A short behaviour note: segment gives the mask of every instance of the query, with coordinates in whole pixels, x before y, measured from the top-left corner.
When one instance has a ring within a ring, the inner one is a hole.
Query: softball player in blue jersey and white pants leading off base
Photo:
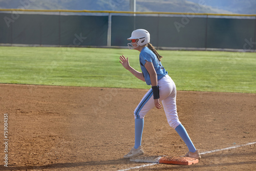
[[[144,29],[134,30],[132,36],[127,38],[132,42],[127,44],[129,49],[140,51],[139,60],[141,71],[136,71],[130,64],[128,57],[120,56],[122,66],[130,71],[138,79],[145,81],[147,85],[151,85],[151,89],[144,95],[139,105],[134,111],[135,117],[135,145],[131,151],[124,155],[124,158],[144,154],[141,147],[142,132],[144,126],[144,116],[154,106],[161,109],[162,101],[167,121],[171,127],[180,135],[188,147],[188,153],[185,157],[200,159],[199,150],[197,150],[190,140],[184,126],[181,124],[176,108],[176,86],[172,78],[162,66],[161,58],[155,48],[150,44],[150,33]]]

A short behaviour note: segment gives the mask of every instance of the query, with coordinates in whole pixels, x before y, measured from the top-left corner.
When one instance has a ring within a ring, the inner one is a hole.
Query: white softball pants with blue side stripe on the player
[[[177,114],[176,106],[176,86],[172,78],[168,75],[165,75],[163,78],[158,80],[159,86],[159,101],[162,101],[164,112],[167,118],[167,121],[171,127],[176,129],[177,126],[181,124]],[[152,89],[144,95],[139,105],[134,111],[135,119],[144,118],[146,113],[154,108],[154,98]]]

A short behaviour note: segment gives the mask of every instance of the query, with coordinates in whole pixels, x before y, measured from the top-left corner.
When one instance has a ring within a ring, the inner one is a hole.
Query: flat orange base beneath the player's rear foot
[[[179,165],[191,165],[198,163],[199,160],[190,157],[162,157],[159,159],[159,163],[162,164],[179,164]]]

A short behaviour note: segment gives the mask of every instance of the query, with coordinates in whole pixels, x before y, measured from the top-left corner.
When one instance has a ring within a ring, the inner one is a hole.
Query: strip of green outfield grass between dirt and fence
[[[158,52],[177,90],[256,93],[256,53]],[[120,55],[141,71],[135,50],[0,47],[0,82],[149,89],[122,67]]]

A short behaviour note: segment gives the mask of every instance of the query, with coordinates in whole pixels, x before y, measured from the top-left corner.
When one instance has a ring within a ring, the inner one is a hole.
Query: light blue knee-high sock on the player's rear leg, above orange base
[[[195,148],[193,142],[189,138],[185,127],[182,124],[180,124],[179,126],[176,127],[175,131],[180,135],[182,140],[185,142],[185,144],[188,147],[189,152],[195,153],[197,151],[197,149]]]

